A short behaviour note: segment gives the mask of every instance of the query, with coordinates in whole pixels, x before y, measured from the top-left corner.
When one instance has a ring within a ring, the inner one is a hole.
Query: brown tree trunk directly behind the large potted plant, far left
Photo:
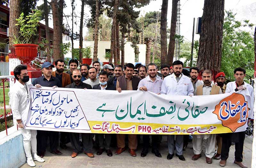
[[[10,22],[9,22],[9,49],[12,48],[13,37],[19,37],[19,26],[17,24],[17,18],[20,16],[20,0],[10,1]]]

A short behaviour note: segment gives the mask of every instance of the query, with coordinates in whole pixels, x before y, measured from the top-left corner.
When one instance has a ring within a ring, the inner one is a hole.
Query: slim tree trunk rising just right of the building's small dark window
[[[117,13],[117,5],[118,5],[118,0],[115,0],[114,4],[114,9],[113,9],[113,15],[112,15],[112,27],[111,27],[111,44],[110,44],[110,54],[111,57],[109,58],[109,63],[112,63],[113,56],[114,56],[114,43],[115,41],[115,36],[116,36],[116,13]],[[115,60],[115,57],[114,57]]]

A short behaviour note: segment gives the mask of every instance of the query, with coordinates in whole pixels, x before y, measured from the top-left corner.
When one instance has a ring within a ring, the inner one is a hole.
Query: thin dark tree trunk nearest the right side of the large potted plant
[[[50,52],[51,42],[50,42],[47,0],[44,0],[44,20],[45,20],[45,36],[46,36],[46,40],[48,41],[48,44],[47,44],[47,47],[46,47],[47,60],[49,62],[52,62],[51,61],[51,52]]]

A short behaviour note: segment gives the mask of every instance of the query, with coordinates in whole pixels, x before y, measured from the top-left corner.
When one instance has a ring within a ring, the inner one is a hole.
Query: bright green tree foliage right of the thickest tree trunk
[[[250,32],[243,27],[252,27],[249,20],[243,23],[235,19],[232,11],[225,11],[223,24],[222,58],[220,71],[226,74],[227,80],[234,81],[234,69],[242,67],[246,70],[246,82],[250,81],[254,72],[254,41]]]

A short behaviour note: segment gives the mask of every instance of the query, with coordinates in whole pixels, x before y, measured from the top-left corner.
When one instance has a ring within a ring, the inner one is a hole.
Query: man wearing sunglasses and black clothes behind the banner
[[[80,72],[79,69],[74,69],[72,71],[72,78],[73,78],[73,83],[67,85],[65,88],[74,88],[74,89],[92,89],[92,86],[90,84],[85,84],[81,82],[82,79],[82,73]],[[83,148],[84,148],[84,153],[88,157],[94,157],[92,153],[92,138],[93,134],[90,133],[81,133],[82,135],[82,143],[83,143]],[[77,156],[78,153],[82,151],[80,143],[79,143],[79,133],[69,133],[70,136],[70,142],[73,148],[73,153],[71,154],[71,157],[74,158]]]

